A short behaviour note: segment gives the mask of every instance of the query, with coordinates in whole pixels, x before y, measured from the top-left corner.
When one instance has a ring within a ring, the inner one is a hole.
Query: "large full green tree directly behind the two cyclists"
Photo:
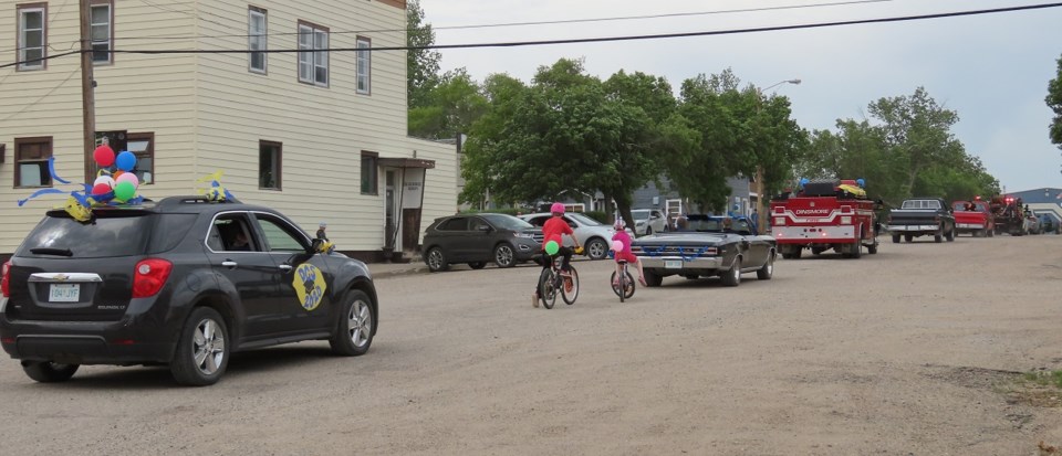
[[[602,83],[581,61],[562,59],[540,67],[530,86],[489,78],[485,94],[490,109],[465,150],[464,201],[488,192],[517,203],[601,191],[629,219],[634,190],[658,172],[658,129],[642,105],[666,112],[663,79],[617,73]]]

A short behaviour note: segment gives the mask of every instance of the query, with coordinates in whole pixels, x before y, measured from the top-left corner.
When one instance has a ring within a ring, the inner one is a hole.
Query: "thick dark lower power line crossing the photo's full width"
[[[1029,11],[1029,10],[1039,10],[1039,9],[1058,8],[1058,7],[1062,7],[1062,2],[1030,4],[1030,6],[1021,6],[1021,7],[1008,7],[1008,8],[993,8],[993,9],[987,9],[987,10],[956,11],[956,12],[936,13],[936,14],[918,14],[918,15],[904,15],[904,17],[893,17],[893,18],[878,18],[878,19],[857,19],[857,20],[848,20],[848,21],[820,22],[820,23],[811,23],[811,24],[773,25],[773,26],[751,28],[751,29],[731,29],[731,30],[716,30],[716,31],[705,31],[705,32],[580,38],[580,39],[565,39],[565,40],[513,41],[513,42],[494,42],[494,43],[433,44],[427,46],[330,47],[326,50],[309,50],[309,51],[298,50],[298,49],[294,49],[294,50],[283,49],[283,50],[263,50],[263,51],[254,51],[254,52],[271,53],[271,54],[296,53],[296,52],[358,52],[358,51],[379,52],[379,51],[517,47],[517,46],[532,46],[532,45],[601,43],[601,42],[615,42],[615,41],[659,40],[659,39],[671,39],[671,38],[714,36],[714,35],[728,35],[728,34],[742,34],[742,33],[777,32],[777,31],[783,31],[783,30],[821,29],[821,28],[827,28],[827,26],[857,25],[857,24],[871,24],[871,23],[905,22],[905,21],[926,20],[926,19],[944,19],[944,18],[966,17],[966,15],[993,14],[993,13],[1001,13],[1001,12]],[[39,60],[54,59],[58,56],[69,55],[69,54],[79,53],[79,52],[80,51],[75,51],[75,52],[60,54],[55,56],[48,56]],[[249,53],[250,51],[242,49],[242,50],[139,50],[139,51],[111,50],[110,52],[121,53],[121,54],[159,55],[159,54],[246,54],[246,53]],[[0,65],[0,68],[11,66],[11,65],[17,65],[19,63],[21,62]]]

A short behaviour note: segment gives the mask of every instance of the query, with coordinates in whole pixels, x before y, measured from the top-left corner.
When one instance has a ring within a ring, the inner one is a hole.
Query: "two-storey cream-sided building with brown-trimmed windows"
[[[140,194],[191,194],[202,185],[196,179],[221,170],[241,201],[275,208],[311,234],[326,221],[339,250],[365,259],[378,259],[388,244],[386,226],[397,226],[396,250],[412,250],[427,223],[456,210],[456,146],[406,136],[404,51],[277,52],[404,46],[404,1],[93,3],[111,13],[96,11],[94,39],[107,28],[111,36],[94,44],[119,51],[93,68],[95,129],[138,151],[137,173],[152,181]],[[75,49],[76,4],[4,2],[0,64],[24,59],[17,40],[32,44],[40,34],[33,11],[46,18],[48,55]],[[121,52],[250,46],[273,52]],[[43,70],[0,68],[0,255],[65,201],[52,194],[18,206],[41,188],[31,172],[17,172],[46,158],[35,145],[50,146],[59,177],[84,181],[80,79],[76,54],[50,59]],[[423,212],[410,210],[420,206],[412,197],[421,190]]]

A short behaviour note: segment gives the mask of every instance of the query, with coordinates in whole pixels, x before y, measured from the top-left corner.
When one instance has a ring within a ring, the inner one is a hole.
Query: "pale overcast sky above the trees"
[[[1047,0],[420,0],[436,44],[705,32],[772,25],[935,14],[1043,4]],[[831,3],[834,3],[831,6]],[[475,29],[447,26],[570,21],[632,15],[723,12],[657,19]],[[1060,151],[1048,137],[1048,82],[1062,56],[1062,8],[975,17],[821,29],[562,44],[442,50],[442,70],[465,67],[482,81],[508,73],[529,83],[561,57],[584,59],[591,74],[641,71],[678,87],[699,73],[730,67],[742,85],[767,87],[792,100],[806,129],[835,130],[836,119],[862,119],[882,97],[929,95],[959,114],[952,128],[1007,191],[1062,187]],[[873,185],[873,182],[868,182]]]

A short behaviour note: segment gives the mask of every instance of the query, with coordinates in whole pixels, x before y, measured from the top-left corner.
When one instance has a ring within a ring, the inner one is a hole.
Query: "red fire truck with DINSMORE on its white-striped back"
[[[771,201],[771,234],[783,258],[800,258],[804,248],[818,255],[834,250],[858,258],[863,247],[877,253],[874,214],[881,202],[866,198],[854,180],[802,181],[796,192]]]

